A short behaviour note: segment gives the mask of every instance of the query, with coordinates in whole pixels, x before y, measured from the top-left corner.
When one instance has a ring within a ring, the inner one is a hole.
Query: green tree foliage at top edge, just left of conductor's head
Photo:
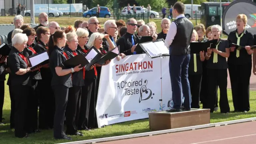
[[[161,11],[162,8],[168,8],[168,3],[166,0],[136,0],[140,6],[144,6],[147,8],[148,4],[150,4],[151,9],[154,11]]]

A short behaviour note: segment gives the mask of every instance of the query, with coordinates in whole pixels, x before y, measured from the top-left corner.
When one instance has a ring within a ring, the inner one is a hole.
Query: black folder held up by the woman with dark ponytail
[[[63,64],[66,68],[74,68],[75,66],[78,66],[79,64],[81,64],[80,68],[82,68],[82,67],[86,66],[87,64],[89,64],[89,62],[84,57],[84,55],[78,54],[78,55],[66,60],[65,62],[63,62]]]

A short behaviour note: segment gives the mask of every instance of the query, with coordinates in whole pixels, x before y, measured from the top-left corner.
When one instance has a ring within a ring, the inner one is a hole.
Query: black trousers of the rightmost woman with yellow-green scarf
[[[242,65],[228,64],[228,72],[230,74],[232,98],[235,111],[249,111],[252,63]]]

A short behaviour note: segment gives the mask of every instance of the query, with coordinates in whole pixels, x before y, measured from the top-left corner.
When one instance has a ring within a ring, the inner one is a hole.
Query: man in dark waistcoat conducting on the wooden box
[[[188,81],[188,64],[190,60],[190,40],[193,24],[184,16],[185,6],[176,2],[173,6],[172,16],[176,18],[167,33],[164,44],[169,47],[169,70],[172,84],[172,100],[174,105],[168,112],[191,109],[191,94]],[[184,96],[182,104],[181,90]]]

